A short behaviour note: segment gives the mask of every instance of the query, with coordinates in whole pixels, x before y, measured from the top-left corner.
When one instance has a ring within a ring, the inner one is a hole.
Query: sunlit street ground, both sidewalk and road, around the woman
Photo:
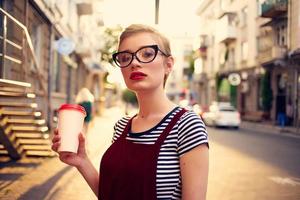
[[[88,149],[97,168],[122,114],[109,109],[90,127]],[[208,133],[208,200],[300,199],[299,137],[210,127]],[[77,170],[57,157],[6,164],[0,174],[1,199],[97,199]]]

